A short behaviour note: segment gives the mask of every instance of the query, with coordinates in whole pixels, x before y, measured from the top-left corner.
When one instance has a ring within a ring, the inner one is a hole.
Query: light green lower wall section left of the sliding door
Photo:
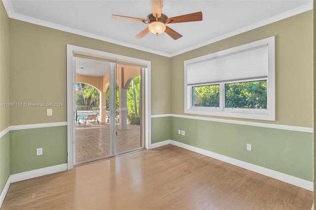
[[[43,154],[36,155],[36,148]],[[67,163],[67,126],[10,131],[10,174]]]

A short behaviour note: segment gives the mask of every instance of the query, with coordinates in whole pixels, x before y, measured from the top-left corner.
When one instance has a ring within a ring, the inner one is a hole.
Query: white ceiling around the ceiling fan
[[[202,11],[203,21],[169,24],[183,37],[135,35],[148,25],[113,20],[111,14],[145,18],[150,0],[2,0],[10,18],[171,57],[313,9],[313,0],[164,0],[168,17]]]

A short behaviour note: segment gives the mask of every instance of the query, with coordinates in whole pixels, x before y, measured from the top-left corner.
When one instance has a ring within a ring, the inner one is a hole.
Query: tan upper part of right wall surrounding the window
[[[184,114],[185,60],[276,36],[276,121],[241,121],[313,127],[313,11],[235,35],[171,58],[171,113]],[[216,116],[205,116],[223,118]]]

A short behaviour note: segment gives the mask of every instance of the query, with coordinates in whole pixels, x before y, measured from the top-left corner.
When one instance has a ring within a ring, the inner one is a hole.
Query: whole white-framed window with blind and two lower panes
[[[185,113],[275,120],[275,37],[184,62]]]

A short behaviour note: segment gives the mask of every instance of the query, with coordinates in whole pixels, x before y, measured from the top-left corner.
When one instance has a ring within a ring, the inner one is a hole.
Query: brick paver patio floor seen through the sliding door
[[[118,123],[117,123],[118,124]],[[120,131],[116,125],[116,154],[143,147],[139,125],[127,125]],[[76,164],[110,155],[110,123],[81,123],[76,127]]]

